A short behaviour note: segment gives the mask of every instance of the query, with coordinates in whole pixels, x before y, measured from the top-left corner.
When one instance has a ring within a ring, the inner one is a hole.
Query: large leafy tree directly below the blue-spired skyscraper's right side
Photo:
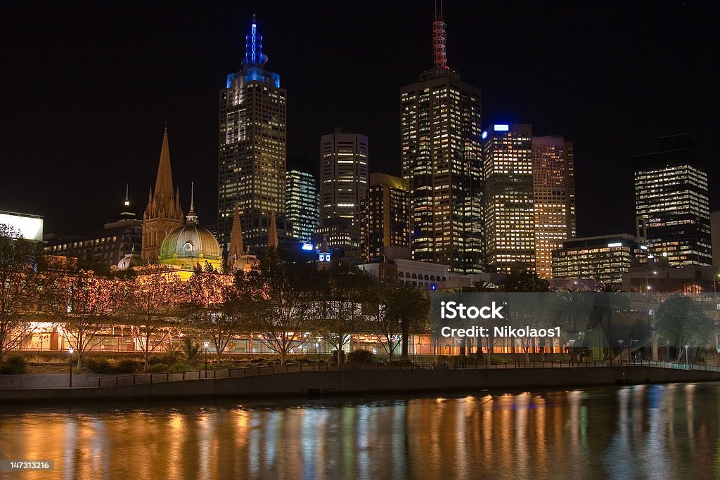
[[[238,289],[246,291],[248,307],[253,316],[253,330],[261,333],[260,341],[280,356],[287,355],[305,341],[304,332],[312,313],[315,268],[292,264],[270,248],[261,258],[260,268],[237,276]]]

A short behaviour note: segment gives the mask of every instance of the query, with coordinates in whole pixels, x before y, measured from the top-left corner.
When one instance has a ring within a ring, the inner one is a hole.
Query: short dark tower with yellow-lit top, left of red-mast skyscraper
[[[370,173],[360,222],[364,261],[382,259],[388,247],[410,248],[409,213],[407,182],[384,173]]]

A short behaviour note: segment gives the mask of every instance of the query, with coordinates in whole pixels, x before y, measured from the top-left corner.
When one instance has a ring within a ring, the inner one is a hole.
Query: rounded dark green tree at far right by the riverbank
[[[710,343],[713,322],[690,296],[673,295],[662,302],[656,319],[657,334],[678,348],[678,361],[685,345],[699,347]]]

